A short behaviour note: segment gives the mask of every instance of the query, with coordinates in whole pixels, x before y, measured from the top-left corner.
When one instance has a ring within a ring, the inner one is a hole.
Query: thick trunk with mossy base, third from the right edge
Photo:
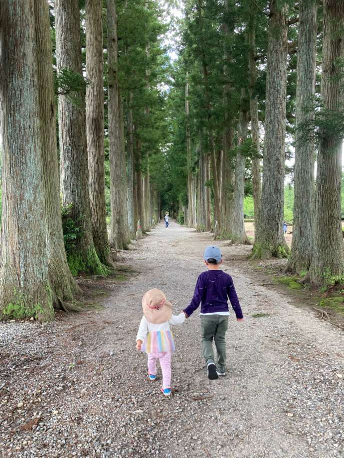
[[[287,97],[288,3],[270,1],[266,74],[266,115],[261,218],[256,225],[254,258],[288,254],[283,235],[284,162]]]

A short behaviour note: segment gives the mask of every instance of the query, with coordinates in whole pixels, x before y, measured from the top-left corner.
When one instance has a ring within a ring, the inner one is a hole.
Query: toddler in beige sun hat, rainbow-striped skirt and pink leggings
[[[142,317],[136,337],[136,348],[148,356],[148,376],[157,378],[157,359],[163,372],[162,393],[171,395],[171,356],[175,350],[171,325],[181,325],[185,321],[184,312],[172,315],[172,304],[163,291],[151,289],[142,298]]]

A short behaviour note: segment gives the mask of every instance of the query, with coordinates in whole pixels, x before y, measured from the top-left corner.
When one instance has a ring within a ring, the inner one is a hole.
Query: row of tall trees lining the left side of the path
[[[4,0],[0,21],[0,316],[50,320],[157,222],[165,26],[144,0]]]

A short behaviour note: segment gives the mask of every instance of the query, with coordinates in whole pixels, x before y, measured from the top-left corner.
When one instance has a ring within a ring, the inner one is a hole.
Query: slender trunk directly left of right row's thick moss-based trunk
[[[260,172],[260,141],[259,141],[259,123],[258,123],[258,97],[256,96],[256,11],[252,9],[250,17],[250,26],[248,30],[249,43],[249,77],[250,77],[250,115],[251,115],[251,138],[255,146],[255,154],[252,158],[252,195],[255,226],[259,226],[261,197],[262,197],[262,180]]]

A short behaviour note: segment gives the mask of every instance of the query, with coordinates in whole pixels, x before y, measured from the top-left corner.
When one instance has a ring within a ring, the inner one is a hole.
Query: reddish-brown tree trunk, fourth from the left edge
[[[101,262],[111,265],[105,209],[102,0],[86,1],[86,132],[93,242]]]

